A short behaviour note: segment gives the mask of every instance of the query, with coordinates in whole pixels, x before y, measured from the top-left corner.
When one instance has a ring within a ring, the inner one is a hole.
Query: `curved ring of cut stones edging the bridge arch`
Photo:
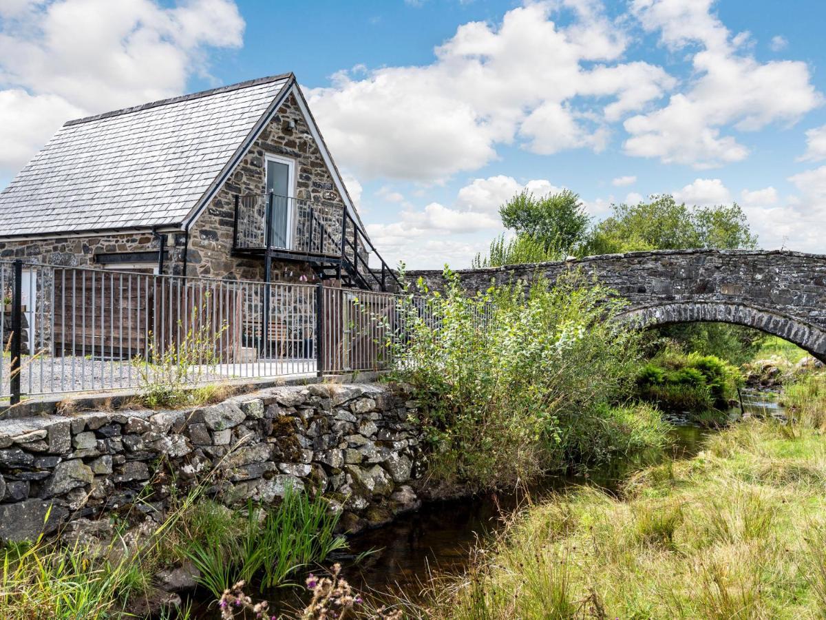
[[[826,330],[800,318],[743,303],[654,303],[629,308],[617,318],[643,329],[691,322],[718,322],[752,327],[790,341],[819,360],[826,360]]]

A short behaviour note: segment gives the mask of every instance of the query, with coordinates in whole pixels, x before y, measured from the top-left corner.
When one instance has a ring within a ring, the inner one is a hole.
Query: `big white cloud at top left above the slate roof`
[[[0,16],[0,173],[69,118],[182,93],[244,31],[232,0],[2,0]]]

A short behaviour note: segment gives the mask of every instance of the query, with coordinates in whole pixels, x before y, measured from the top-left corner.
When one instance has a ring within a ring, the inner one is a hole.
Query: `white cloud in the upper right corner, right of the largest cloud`
[[[624,122],[625,152],[666,163],[710,168],[740,161],[748,148],[724,128],[757,131],[771,122],[795,122],[822,103],[804,62],[760,63],[748,55],[748,33],[732,36],[710,10],[713,0],[634,0],[632,12],[663,45],[692,57],[695,78],[667,106]]]

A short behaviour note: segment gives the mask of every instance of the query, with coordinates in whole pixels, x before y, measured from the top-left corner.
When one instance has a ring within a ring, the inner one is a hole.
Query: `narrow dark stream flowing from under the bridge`
[[[746,415],[784,417],[777,393],[743,389],[742,403],[742,413]],[[733,408],[732,421],[742,413],[739,406]],[[680,414],[666,414],[665,418],[672,424],[673,441],[669,446],[643,451],[587,474],[548,475],[527,491],[531,500],[541,501],[582,484],[615,492],[628,475],[646,465],[691,458],[715,432],[692,426]],[[422,585],[430,579],[431,572],[457,574],[465,570],[472,547],[480,538],[501,530],[525,498],[526,492],[522,490],[426,503],[415,513],[401,515],[387,526],[351,537],[349,549],[330,557],[327,564],[340,562],[342,575],[359,592],[371,592],[378,599],[386,598],[382,594],[387,593],[420,602]],[[363,558],[356,562],[360,555]],[[265,597],[273,603],[271,612],[300,609],[306,604],[306,590],[298,588],[275,589]],[[217,617],[216,608],[208,605],[196,605],[192,611],[193,618]]]

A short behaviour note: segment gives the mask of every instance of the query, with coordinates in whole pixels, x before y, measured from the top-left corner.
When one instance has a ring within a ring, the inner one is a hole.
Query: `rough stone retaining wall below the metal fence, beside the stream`
[[[161,517],[169,483],[207,481],[227,505],[313,489],[345,530],[418,506],[416,403],[403,387],[263,389],[203,408],[120,410],[0,421],[0,539],[99,517],[141,494]]]

